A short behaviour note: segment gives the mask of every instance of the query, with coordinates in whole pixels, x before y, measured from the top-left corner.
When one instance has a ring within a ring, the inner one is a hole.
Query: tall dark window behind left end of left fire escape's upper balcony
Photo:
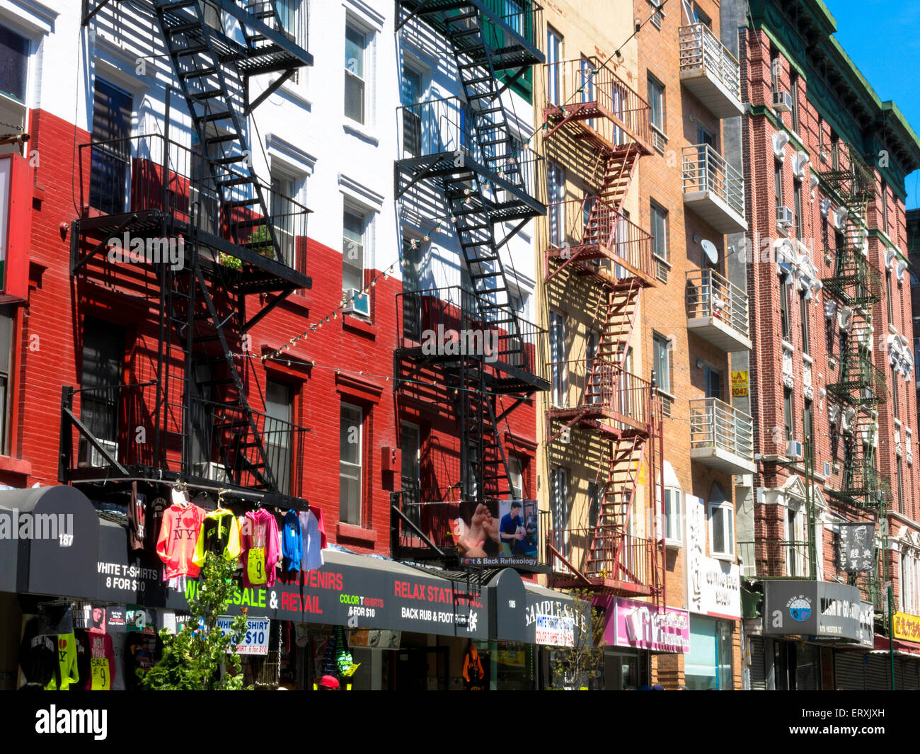
[[[89,168],[89,206],[108,215],[127,209],[131,176],[132,97],[96,79],[93,100],[93,141]]]

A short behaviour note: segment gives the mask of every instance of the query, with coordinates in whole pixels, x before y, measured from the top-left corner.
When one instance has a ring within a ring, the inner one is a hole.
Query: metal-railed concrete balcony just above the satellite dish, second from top
[[[719,233],[743,233],[744,179],[711,145],[684,146],[684,206]]]

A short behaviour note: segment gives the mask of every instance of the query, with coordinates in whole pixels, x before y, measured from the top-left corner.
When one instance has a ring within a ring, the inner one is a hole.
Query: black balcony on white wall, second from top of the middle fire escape
[[[399,108],[397,125],[397,199],[412,191],[404,202],[427,202],[431,212],[443,215],[443,207],[426,194],[420,181],[433,183],[441,192],[457,191],[465,184],[470,189],[465,212],[481,210],[492,222],[546,212],[535,199],[543,158],[525,149],[488,111],[455,97],[433,99]],[[475,190],[476,183],[482,191]]]

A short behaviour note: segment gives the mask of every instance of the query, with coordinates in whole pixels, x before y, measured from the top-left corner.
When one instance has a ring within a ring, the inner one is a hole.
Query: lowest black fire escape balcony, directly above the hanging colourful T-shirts
[[[213,390],[226,389],[225,382],[215,378]],[[181,475],[301,496],[306,427],[247,411],[229,396],[164,406],[160,392],[155,381],[63,388],[60,481]],[[139,426],[147,428],[145,443],[135,441]]]

